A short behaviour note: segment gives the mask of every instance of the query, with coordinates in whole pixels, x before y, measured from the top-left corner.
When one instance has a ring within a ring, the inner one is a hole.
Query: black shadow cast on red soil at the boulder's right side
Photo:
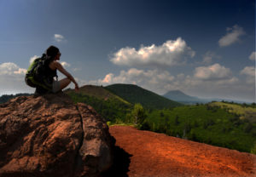
[[[125,150],[119,146],[113,147],[113,166],[107,171],[102,173],[101,177],[108,176],[122,176],[128,177],[127,172],[129,171],[129,165],[131,163],[131,154],[127,153]]]

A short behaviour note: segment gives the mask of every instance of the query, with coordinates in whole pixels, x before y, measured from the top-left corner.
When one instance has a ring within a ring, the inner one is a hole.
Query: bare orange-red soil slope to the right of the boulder
[[[165,134],[112,126],[112,176],[256,176],[256,156]]]

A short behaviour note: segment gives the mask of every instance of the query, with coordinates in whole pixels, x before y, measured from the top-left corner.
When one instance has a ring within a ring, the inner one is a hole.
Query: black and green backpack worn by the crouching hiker
[[[32,62],[26,71],[25,82],[32,88],[44,88],[49,92],[52,90],[52,79],[58,77],[56,72],[54,76],[49,76],[47,73],[47,67],[49,67],[49,61],[51,58],[43,54],[41,58],[38,58]]]

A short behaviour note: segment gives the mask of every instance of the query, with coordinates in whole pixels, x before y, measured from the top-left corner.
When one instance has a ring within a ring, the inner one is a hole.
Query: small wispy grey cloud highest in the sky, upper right
[[[220,47],[226,47],[231,45],[232,43],[236,43],[239,41],[239,37],[245,34],[242,27],[240,26],[233,26],[231,28],[227,28],[227,34],[224,37],[221,37],[218,40],[218,45]]]

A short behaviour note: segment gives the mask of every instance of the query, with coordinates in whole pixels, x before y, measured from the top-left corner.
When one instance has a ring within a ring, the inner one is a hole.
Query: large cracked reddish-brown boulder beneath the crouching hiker
[[[92,107],[66,94],[21,96],[0,105],[0,176],[98,176],[113,140]]]

